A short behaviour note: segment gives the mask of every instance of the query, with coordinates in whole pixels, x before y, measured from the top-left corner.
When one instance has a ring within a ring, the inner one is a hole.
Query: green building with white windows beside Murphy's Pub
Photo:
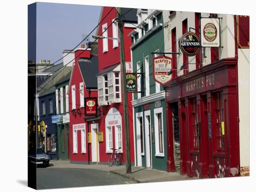
[[[153,58],[168,43],[168,11],[137,9],[132,37],[133,72],[138,92],[133,96],[136,166],[167,171],[165,90],[153,78]],[[166,26],[167,27],[164,27]],[[154,54],[155,52],[155,54]]]

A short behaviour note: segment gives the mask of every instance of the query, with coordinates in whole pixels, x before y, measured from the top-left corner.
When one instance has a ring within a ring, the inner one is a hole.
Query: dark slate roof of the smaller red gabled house
[[[97,73],[98,68],[98,56],[92,56],[90,59],[79,59],[79,68],[81,70],[82,77],[87,89],[97,89]]]

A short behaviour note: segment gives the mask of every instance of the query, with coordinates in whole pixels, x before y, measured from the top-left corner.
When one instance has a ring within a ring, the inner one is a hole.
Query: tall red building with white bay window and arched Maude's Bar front
[[[132,72],[130,45],[131,38],[127,37],[137,24],[136,9],[122,8],[124,15],[124,49],[127,72]],[[125,163],[125,132],[124,113],[121,96],[121,66],[120,49],[118,38],[117,12],[115,7],[102,7],[100,26],[97,35],[107,38],[98,39],[99,73],[98,83],[98,105],[101,108],[101,119],[98,124],[98,131],[102,132],[103,141],[99,142],[99,162],[108,162],[108,157],[112,153],[111,148],[121,147],[122,159]],[[131,105],[132,94],[128,94],[128,115],[133,116]],[[129,118],[130,133],[130,154],[131,162],[134,162],[134,131],[133,119]]]

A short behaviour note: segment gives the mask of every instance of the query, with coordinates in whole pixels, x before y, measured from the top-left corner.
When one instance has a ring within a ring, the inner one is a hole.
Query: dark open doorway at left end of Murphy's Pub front
[[[180,150],[178,102],[172,103],[171,108],[172,108],[172,121],[173,121],[175,172],[180,172],[181,150]]]

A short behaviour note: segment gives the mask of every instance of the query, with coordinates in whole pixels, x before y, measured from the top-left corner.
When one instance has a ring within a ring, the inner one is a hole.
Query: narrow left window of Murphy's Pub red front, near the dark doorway
[[[191,117],[192,117],[192,129],[193,129],[193,147],[199,149],[199,129],[198,129],[198,116],[196,108],[196,98],[191,99]]]

